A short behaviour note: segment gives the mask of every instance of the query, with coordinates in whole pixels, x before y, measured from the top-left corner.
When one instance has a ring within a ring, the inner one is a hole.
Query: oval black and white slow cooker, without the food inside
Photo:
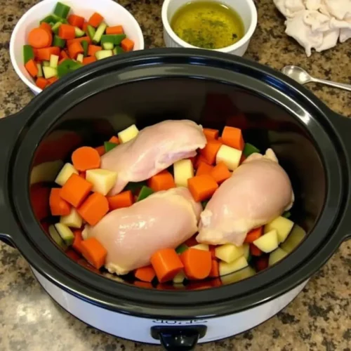
[[[93,270],[55,246],[39,223],[32,183],[55,176],[48,165],[62,164],[79,145],[164,119],[239,126],[249,143],[272,147],[296,194],[292,219],[307,232],[298,248],[248,279],[177,290]],[[65,310],[120,338],[191,350],[251,329],[289,304],[350,238],[351,121],[250,60],[195,49],[119,55],[60,79],[0,126],[1,239]]]

